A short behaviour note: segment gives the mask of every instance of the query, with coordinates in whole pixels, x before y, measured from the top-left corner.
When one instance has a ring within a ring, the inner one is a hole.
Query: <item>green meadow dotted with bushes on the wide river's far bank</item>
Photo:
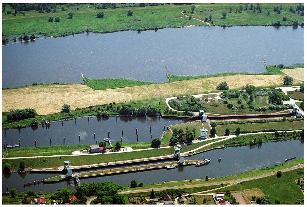
[[[253,12],[252,10],[243,10],[242,13],[235,13],[235,8],[239,4],[197,4],[199,5],[193,15],[193,18],[204,21],[204,17],[212,15],[215,25],[271,25],[276,20],[280,20],[282,25],[290,25],[297,19],[299,23],[304,21],[304,16],[293,14],[289,11],[290,5],[295,8],[297,4],[283,4],[281,14],[273,11],[275,4],[260,4],[262,12]],[[244,6],[244,4],[241,4]],[[16,35],[27,32],[29,34],[45,34],[46,36],[58,37],[84,32],[87,27],[90,32],[105,33],[120,30],[147,30],[164,28],[164,27],[182,27],[186,25],[205,26],[206,24],[194,19],[188,19],[181,14],[181,11],[187,9],[187,14],[191,12],[191,5],[163,5],[163,6],[146,6],[146,7],[128,7],[117,9],[96,9],[90,5],[66,6],[67,11],[57,13],[38,13],[37,11],[25,11],[25,15],[2,13],[2,30],[6,35]],[[79,11],[76,10],[79,7]],[[233,12],[229,13],[229,7]],[[6,6],[6,10],[10,10]],[[127,11],[132,10],[133,15],[127,16]],[[271,11],[266,15],[267,10]],[[14,14],[14,10],[11,10]],[[101,19],[96,18],[96,14],[103,11],[105,16]],[[152,11],[154,13],[152,13]],[[222,11],[227,12],[225,19],[222,17]],[[73,12],[72,19],[68,19],[68,13]],[[48,22],[48,17],[60,17],[60,22]],[[287,21],[282,21],[282,17],[287,16]],[[158,23],[157,23],[158,22]]]

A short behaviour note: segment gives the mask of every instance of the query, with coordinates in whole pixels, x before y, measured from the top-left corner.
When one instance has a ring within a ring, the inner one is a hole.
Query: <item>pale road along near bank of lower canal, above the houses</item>
[[[303,167],[304,167],[304,164],[301,164],[301,166],[299,166],[299,167],[298,166],[293,166],[293,167],[290,167],[290,168],[282,169],[281,171],[282,172],[286,172],[286,171],[290,171],[290,170],[298,169],[298,168],[303,168]],[[157,191],[157,190],[166,190],[166,189],[194,188],[194,187],[202,187],[202,186],[209,186],[209,185],[220,185],[222,183],[224,183],[224,184],[225,183],[231,183],[230,185],[227,185],[227,187],[228,187],[228,186],[236,185],[236,184],[244,182],[244,181],[250,181],[250,180],[259,179],[259,178],[262,178],[262,177],[268,177],[268,176],[271,176],[271,175],[275,175],[276,172],[277,171],[274,171],[274,172],[271,172],[271,173],[262,174],[262,175],[257,175],[257,176],[254,176],[254,177],[247,177],[247,178],[236,179],[236,180],[231,180],[231,181],[219,181],[219,182],[194,184],[194,185],[179,185],[179,186],[161,187],[161,188],[153,188],[153,189]],[[226,186],[223,186],[223,187],[226,187]],[[128,190],[128,191],[122,191],[120,193],[121,194],[127,194],[127,193],[149,192],[149,191],[151,191],[151,189],[152,188],[138,189],[138,190]],[[214,189],[211,189],[211,190],[208,190],[208,191],[212,191],[212,190],[214,190]],[[202,192],[198,192],[198,193],[203,193],[203,192],[206,192],[206,191],[202,191]]]

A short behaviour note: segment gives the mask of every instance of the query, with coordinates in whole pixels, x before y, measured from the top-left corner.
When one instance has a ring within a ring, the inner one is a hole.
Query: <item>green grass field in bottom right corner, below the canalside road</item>
[[[301,174],[302,173],[302,174]],[[280,204],[286,204],[286,201],[294,203],[297,199],[303,200],[304,194],[295,180],[304,177],[304,169],[295,169],[283,172],[282,177],[276,175],[263,177],[251,181],[244,181],[237,185],[229,186],[213,192],[244,192],[248,189],[260,189],[262,193],[267,194],[271,198],[272,204],[276,199],[280,200]]]

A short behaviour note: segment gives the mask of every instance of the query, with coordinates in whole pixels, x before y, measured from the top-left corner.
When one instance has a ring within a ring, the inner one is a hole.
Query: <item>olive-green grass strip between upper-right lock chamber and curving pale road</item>
[[[228,128],[231,134],[235,134],[235,130],[240,127],[241,133],[251,133],[260,131],[278,131],[278,130],[296,130],[304,129],[304,120],[301,121],[284,121],[284,122],[270,122],[270,123],[254,123],[254,124],[230,124],[218,125],[216,133],[219,136],[225,134],[225,129]]]

